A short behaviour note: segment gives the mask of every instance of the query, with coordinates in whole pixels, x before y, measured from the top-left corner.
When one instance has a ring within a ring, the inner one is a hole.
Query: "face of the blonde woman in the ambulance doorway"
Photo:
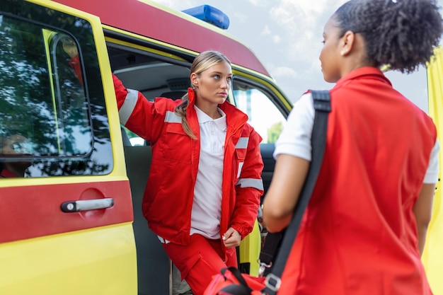
[[[191,74],[198,103],[224,103],[232,82],[232,69],[228,62],[214,64],[200,75]]]

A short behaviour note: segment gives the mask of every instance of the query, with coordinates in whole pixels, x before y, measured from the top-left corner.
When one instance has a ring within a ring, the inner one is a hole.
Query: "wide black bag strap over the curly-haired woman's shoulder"
[[[326,146],[326,132],[328,131],[328,115],[330,112],[330,94],[329,91],[313,91],[311,90],[313,98],[313,108],[316,110],[313,120],[313,129],[311,135],[312,157],[309,165],[308,175],[300,193],[299,200],[294,209],[294,216],[292,217],[289,226],[284,233],[282,245],[277,253],[275,265],[272,266],[272,271],[267,274],[265,280],[265,294],[275,295],[280,288],[282,273],[286,265],[287,257],[291,252],[292,244],[297,236],[301,218],[304,211],[309,204],[313,187],[316,185],[318,173],[323,163],[323,155]]]

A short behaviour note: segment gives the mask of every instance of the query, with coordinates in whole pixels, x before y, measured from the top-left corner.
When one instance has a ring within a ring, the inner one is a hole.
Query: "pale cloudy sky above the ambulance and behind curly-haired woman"
[[[226,33],[257,55],[292,102],[308,89],[330,89],[318,56],[323,26],[345,0],[154,0],[182,11],[207,4],[229,16]],[[442,6],[443,0],[438,0]],[[387,72],[394,88],[427,112],[426,69],[413,74]]]

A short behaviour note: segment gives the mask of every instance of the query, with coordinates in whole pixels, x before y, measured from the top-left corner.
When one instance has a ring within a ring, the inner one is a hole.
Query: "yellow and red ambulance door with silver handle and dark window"
[[[100,20],[0,3],[0,294],[137,294],[132,201]]]

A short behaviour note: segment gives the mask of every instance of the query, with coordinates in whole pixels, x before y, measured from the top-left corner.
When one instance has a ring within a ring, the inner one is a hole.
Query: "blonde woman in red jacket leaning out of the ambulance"
[[[231,63],[202,52],[181,100],[149,102],[114,76],[120,120],[152,145],[143,200],[149,227],[193,294],[236,266],[236,246],[253,229],[263,194],[260,135],[226,101]]]

